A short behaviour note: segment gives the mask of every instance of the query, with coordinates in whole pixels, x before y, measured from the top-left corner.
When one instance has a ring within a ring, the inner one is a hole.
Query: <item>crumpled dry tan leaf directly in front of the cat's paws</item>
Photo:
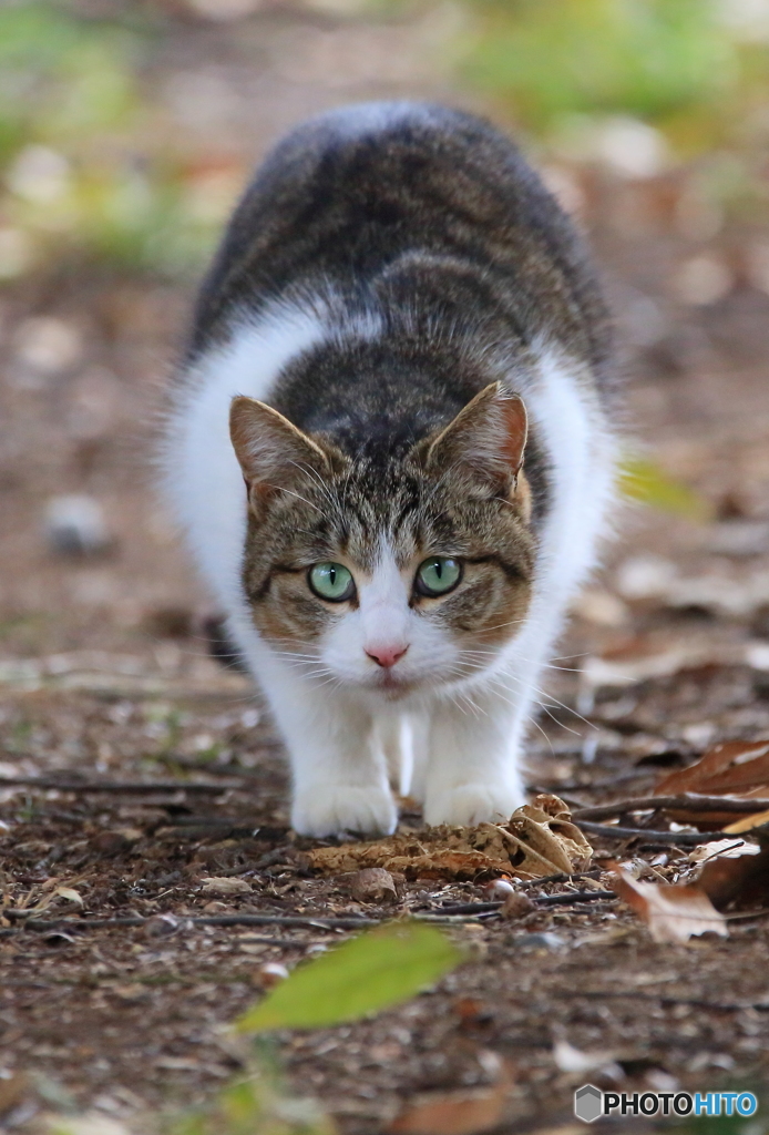
[[[582,871],[590,861],[592,848],[571,819],[563,800],[542,794],[517,808],[505,825],[443,824],[372,843],[315,848],[304,861],[328,875],[379,867],[409,880],[479,880],[501,874],[540,878]]]

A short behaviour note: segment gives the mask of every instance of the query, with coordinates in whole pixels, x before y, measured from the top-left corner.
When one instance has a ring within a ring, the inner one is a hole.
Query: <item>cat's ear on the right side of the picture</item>
[[[523,398],[491,382],[430,444],[428,469],[459,468],[508,493],[523,464],[529,417]]]

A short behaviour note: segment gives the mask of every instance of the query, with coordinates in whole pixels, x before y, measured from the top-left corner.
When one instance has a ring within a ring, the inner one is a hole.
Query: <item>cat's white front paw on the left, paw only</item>
[[[291,808],[291,826],[299,835],[321,838],[339,832],[389,835],[397,823],[395,800],[378,784],[314,785],[298,791]]]

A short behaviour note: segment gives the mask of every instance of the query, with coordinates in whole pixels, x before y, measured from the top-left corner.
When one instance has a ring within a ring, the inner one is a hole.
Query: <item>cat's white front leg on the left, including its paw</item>
[[[285,675],[268,697],[291,765],[291,826],[301,835],[389,834],[398,815],[371,716],[328,688]]]

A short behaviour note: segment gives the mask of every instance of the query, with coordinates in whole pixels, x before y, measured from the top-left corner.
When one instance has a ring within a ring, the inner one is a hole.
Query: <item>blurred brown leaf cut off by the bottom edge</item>
[[[463,1092],[428,1092],[408,1100],[388,1135],[481,1135],[501,1121],[510,1074],[496,1084]]]

